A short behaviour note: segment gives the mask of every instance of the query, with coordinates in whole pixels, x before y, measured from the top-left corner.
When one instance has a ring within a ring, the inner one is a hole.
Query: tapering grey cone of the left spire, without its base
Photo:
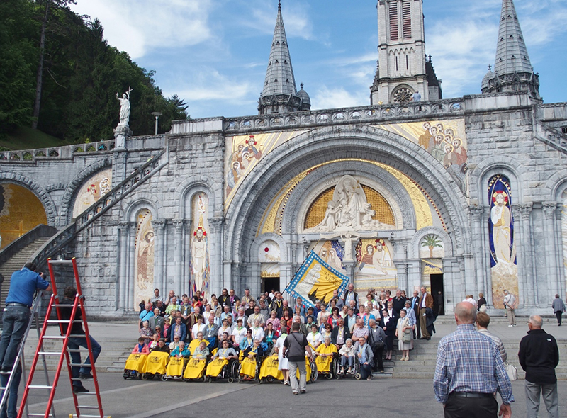
[[[274,29],[274,39],[271,41],[270,58],[262,97],[272,94],[297,94],[286,29],[283,27],[283,18],[281,17],[281,1],[278,2],[278,18]]]

